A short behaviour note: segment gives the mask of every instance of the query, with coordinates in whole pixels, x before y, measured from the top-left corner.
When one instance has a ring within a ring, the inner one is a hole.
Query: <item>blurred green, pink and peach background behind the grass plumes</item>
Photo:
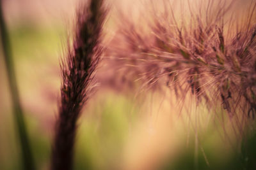
[[[129,6],[134,2],[108,1],[113,10],[134,8]],[[76,4],[74,0],[3,1],[20,101],[38,169],[49,168],[60,97],[59,61],[67,32],[74,26]],[[106,24],[109,34],[114,30],[111,26],[114,15],[111,10]],[[99,82],[97,92],[79,119],[75,169],[253,167],[255,135],[250,131],[246,139],[239,136],[221,108],[216,114],[206,106],[196,107],[191,99],[180,102],[167,88],[161,92],[138,93],[109,88],[109,82],[108,85]],[[0,94],[0,169],[21,169],[3,55]]]

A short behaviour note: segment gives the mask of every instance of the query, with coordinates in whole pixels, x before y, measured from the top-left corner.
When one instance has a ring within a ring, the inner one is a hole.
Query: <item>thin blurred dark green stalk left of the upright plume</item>
[[[33,160],[33,155],[31,153],[31,148],[29,146],[28,134],[26,132],[26,124],[24,122],[23,111],[19,100],[19,91],[17,88],[15,70],[13,67],[12,48],[4,22],[2,3],[3,0],[1,0],[0,2],[1,44],[3,48],[4,64],[6,65],[7,77],[10,85],[11,99],[13,103],[13,115],[16,122],[17,133],[19,134],[24,169],[33,170],[35,169],[35,164]]]

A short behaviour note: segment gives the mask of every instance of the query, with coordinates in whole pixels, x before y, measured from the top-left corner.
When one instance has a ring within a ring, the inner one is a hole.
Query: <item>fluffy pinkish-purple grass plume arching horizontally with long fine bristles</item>
[[[189,13],[180,10],[179,16],[166,2],[162,15],[148,4],[154,13],[146,12],[144,25],[122,15],[122,23],[126,22],[120,24],[108,50],[111,62],[122,68],[121,76],[140,80],[142,89],[168,85],[178,98],[186,96],[189,87],[197,101],[222,107],[230,118],[254,117],[256,3],[234,20],[229,15],[234,1],[198,1],[198,11],[188,2]],[[243,17],[248,18],[246,23],[239,21]]]

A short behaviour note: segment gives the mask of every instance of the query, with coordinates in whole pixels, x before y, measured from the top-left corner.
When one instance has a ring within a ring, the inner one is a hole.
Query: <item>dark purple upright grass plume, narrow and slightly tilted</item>
[[[106,18],[103,0],[81,3],[77,8],[72,45],[61,62],[61,101],[52,146],[51,169],[72,169],[77,119],[92,91],[99,63],[102,26]]]

